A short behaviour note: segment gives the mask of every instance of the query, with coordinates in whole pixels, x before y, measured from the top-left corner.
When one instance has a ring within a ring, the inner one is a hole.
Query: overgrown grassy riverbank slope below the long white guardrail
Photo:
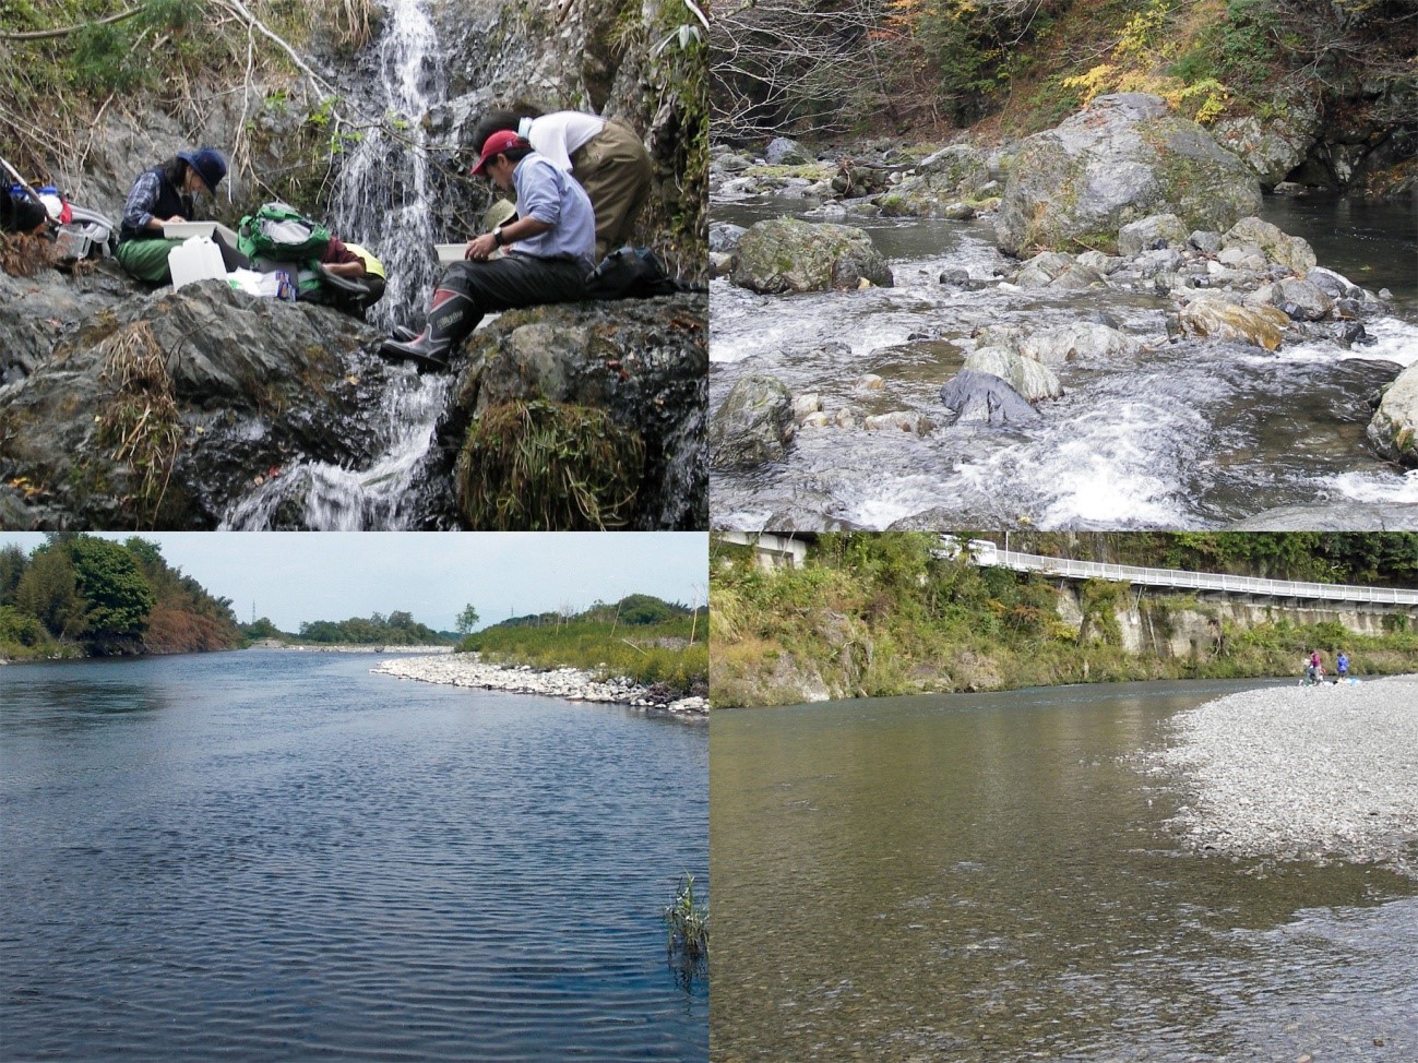
[[[1418,672],[1418,632],[1397,622],[1356,635],[1336,621],[1299,624],[1276,611],[1241,626],[1187,595],[1149,598],[1164,632],[1207,625],[1185,653],[1130,652],[1119,612],[1126,584],[1088,583],[1082,618],[1059,612],[1038,575],[933,557],[929,534],[821,536],[798,570],[764,573],[747,553],[713,544],[710,564],[715,707],[827,697],[998,690],[1082,682],[1297,676],[1319,648],[1344,649],[1357,676]]]

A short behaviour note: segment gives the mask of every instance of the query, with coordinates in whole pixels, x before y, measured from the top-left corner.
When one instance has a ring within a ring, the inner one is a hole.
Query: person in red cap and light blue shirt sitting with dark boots
[[[389,339],[380,354],[444,369],[452,349],[489,310],[584,296],[594,266],[596,215],[581,186],[510,130],[486,139],[472,171],[516,193],[516,220],[469,241],[465,261],[440,278],[423,334]],[[493,258],[498,248],[506,254]]]

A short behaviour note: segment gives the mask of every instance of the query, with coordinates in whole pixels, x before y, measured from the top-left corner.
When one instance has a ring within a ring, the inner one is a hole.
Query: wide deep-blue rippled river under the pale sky
[[[247,651],[0,668],[0,1057],[705,1060],[705,727]]]

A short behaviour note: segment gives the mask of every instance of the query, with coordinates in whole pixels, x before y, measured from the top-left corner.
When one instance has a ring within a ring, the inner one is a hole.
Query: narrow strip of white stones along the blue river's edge
[[[539,670],[527,665],[516,668],[489,665],[479,660],[476,653],[400,658],[386,660],[372,668],[370,672],[398,679],[415,679],[423,683],[542,694],[545,697],[564,697],[570,702],[628,704],[641,710],[661,710],[682,717],[708,717],[709,713],[709,700],[705,697],[672,699],[624,677],[596,682],[590,672],[574,668]]]

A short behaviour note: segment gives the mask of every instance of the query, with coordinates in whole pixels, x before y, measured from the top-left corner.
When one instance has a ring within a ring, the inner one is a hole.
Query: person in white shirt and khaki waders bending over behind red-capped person
[[[532,108],[489,111],[472,129],[472,150],[508,129],[525,136],[586,189],[596,208],[596,259],[631,238],[635,218],[649,198],[649,152],[640,136],[620,120],[580,111],[540,115]]]

